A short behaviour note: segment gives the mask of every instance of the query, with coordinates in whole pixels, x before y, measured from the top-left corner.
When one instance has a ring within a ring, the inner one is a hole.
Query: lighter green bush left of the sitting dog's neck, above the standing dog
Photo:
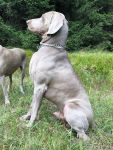
[[[39,43],[38,36],[30,33],[29,31],[19,31],[11,25],[5,24],[0,19],[0,44],[6,47],[21,47],[31,48],[36,51],[36,46]]]

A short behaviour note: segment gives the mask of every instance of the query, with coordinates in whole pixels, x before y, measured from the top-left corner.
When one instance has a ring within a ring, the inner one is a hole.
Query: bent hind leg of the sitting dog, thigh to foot
[[[77,132],[78,138],[84,141],[89,139],[85,133],[89,127],[89,123],[85,113],[79,106],[76,106],[74,103],[66,103],[64,106],[64,118],[71,128]]]

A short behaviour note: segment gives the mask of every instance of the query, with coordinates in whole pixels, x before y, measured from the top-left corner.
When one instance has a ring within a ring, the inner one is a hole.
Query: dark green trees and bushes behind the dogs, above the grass
[[[51,10],[69,21],[69,50],[113,51],[113,0],[0,0],[0,44],[36,50],[40,39],[27,31],[26,20]]]

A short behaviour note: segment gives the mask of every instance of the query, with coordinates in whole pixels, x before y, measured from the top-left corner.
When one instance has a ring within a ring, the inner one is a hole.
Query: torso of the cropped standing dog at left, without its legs
[[[0,75],[11,75],[18,67],[21,66],[22,60],[24,60],[25,57],[25,52],[22,49],[7,49],[3,47],[2,55],[0,56]]]

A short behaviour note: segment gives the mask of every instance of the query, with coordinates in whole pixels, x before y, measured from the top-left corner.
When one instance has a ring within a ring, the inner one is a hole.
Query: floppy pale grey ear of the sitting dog
[[[65,16],[61,13],[54,13],[51,18],[51,23],[47,35],[55,34],[62,26]]]

